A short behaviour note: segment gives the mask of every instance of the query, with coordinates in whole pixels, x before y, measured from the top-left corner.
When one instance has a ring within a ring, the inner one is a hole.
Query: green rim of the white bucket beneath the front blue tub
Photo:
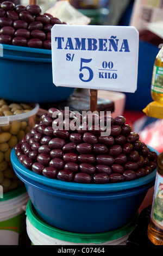
[[[26,215],[29,222],[43,234],[46,234],[54,239],[73,242],[73,243],[104,243],[119,239],[130,233],[135,228],[138,214],[136,213],[129,223],[112,231],[95,234],[72,233],[65,230],[60,230],[47,224],[35,211],[31,200],[28,201]]]

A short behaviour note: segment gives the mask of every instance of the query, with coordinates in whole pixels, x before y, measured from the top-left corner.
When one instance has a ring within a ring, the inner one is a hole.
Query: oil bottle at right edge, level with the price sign
[[[163,46],[154,62],[151,95],[154,101],[163,103]]]

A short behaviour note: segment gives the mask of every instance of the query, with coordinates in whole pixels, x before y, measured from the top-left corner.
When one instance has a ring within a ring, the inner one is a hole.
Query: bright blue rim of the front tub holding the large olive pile
[[[149,147],[153,151],[153,148]],[[158,151],[154,150],[157,154]],[[43,175],[36,174],[32,170],[27,169],[24,167],[19,161],[18,158],[15,154],[14,148],[11,150],[11,155],[10,155],[11,163],[12,166],[18,170],[21,174],[26,176],[29,179],[32,179],[34,181],[39,182],[40,184],[57,188],[57,189],[62,189],[62,190],[67,190],[67,191],[78,191],[78,192],[114,192],[114,191],[122,191],[122,190],[128,190],[130,188],[135,188],[135,187],[140,187],[144,186],[146,184],[151,183],[152,181],[155,180],[156,176],[156,169],[153,170],[152,173],[131,181],[123,181],[123,182],[117,182],[117,183],[108,183],[108,184],[80,184],[76,182],[67,182],[67,181],[61,181],[57,179],[50,179],[47,178]]]

